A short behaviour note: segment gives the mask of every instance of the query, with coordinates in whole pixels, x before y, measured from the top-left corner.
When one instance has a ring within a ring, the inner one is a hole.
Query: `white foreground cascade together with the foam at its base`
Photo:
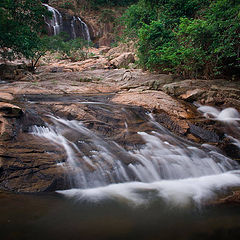
[[[61,191],[67,196],[144,203],[151,193],[184,205],[200,203],[222,188],[240,186],[235,161],[213,146],[194,145],[174,136],[151,115],[148,124],[153,131],[137,133],[145,144],[128,151],[79,121],[49,118],[50,124],[34,126],[32,133],[65,149],[67,159],[61,166],[71,176],[74,188]],[[129,134],[128,129],[126,132]]]

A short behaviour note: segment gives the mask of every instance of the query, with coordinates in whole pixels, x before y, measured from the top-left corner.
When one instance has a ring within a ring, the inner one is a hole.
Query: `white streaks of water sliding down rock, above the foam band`
[[[95,187],[97,182],[98,186],[104,186],[134,180],[154,182],[161,179],[200,177],[238,168],[237,163],[220,152],[180,142],[166,132],[138,132],[145,144],[140,149],[126,151],[117,143],[100,138],[78,121],[55,117],[51,119],[54,126],[34,126],[33,134],[47,138],[65,149],[68,167],[75,171],[79,168],[79,187]],[[88,148],[88,154],[83,153],[76,143],[64,136],[66,129],[88,139],[88,143],[83,144],[83,147]],[[117,152],[123,156],[117,155]],[[132,161],[124,164],[125,159]],[[89,172],[86,166],[94,171]],[[80,169],[84,169],[85,173]]]

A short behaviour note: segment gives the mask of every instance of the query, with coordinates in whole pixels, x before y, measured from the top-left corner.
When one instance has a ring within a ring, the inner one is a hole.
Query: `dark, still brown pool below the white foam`
[[[75,201],[59,194],[0,194],[0,239],[238,239],[240,208],[191,205],[177,208],[161,200],[132,206],[105,200]]]

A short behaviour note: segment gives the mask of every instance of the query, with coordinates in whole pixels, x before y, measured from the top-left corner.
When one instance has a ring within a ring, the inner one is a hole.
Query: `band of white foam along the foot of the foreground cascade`
[[[181,180],[162,180],[152,183],[129,182],[111,184],[90,189],[58,191],[80,201],[101,201],[113,199],[131,204],[145,204],[152,200],[146,193],[153,193],[167,203],[186,206],[192,202],[201,204],[216,196],[217,191],[240,185],[240,171]]]

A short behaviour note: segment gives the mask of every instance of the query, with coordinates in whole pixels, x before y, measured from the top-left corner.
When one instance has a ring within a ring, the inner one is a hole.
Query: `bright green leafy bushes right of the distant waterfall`
[[[140,0],[124,15],[138,39],[142,67],[206,78],[240,75],[240,3],[234,0]]]

